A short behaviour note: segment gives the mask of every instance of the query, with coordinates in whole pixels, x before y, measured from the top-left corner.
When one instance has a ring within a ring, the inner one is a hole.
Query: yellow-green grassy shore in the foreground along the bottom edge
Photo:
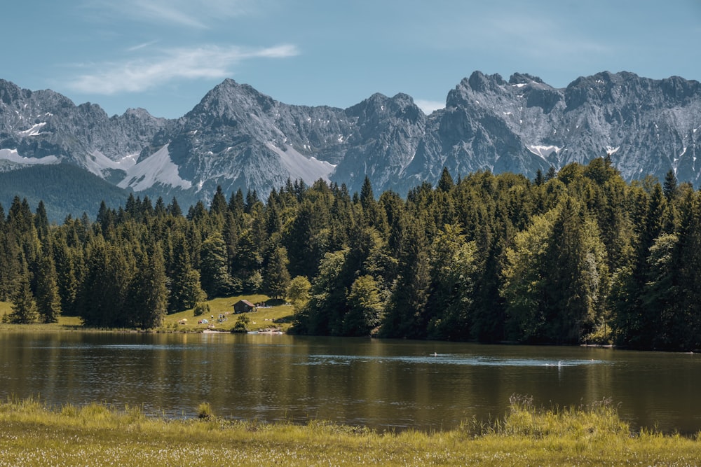
[[[536,410],[526,398],[512,400],[498,421],[437,433],[160,419],[134,407],[50,409],[36,400],[0,404],[0,428],[0,466],[691,466],[701,459],[701,441],[632,433],[606,403]]]

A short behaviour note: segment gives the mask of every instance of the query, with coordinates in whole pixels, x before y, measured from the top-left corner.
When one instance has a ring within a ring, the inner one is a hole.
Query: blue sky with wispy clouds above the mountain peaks
[[[110,116],[177,118],[224,78],[287,104],[405,92],[427,110],[475,70],[701,81],[701,0],[24,0],[1,18],[0,78]]]

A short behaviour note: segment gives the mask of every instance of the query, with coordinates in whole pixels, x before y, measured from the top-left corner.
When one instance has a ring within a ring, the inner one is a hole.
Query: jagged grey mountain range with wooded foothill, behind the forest
[[[226,79],[177,119],[144,109],[108,116],[51,90],[0,80],[0,203],[44,200],[61,220],[94,215],[100,200],[128,193],[207,202],[256,190],[261,199],[287,179],[325,179],[404,195],[478,170],[559,169],[610,155],[627,180],[673,169],[698,186],[701,85],[608,71],[554,88],[529,74],[475,71],[426,115],[409,95],[374,94],[348,109],[278,102]],[[62,195],[62,193],[64,193]],[[82,195],[76,195],[82,193]]]

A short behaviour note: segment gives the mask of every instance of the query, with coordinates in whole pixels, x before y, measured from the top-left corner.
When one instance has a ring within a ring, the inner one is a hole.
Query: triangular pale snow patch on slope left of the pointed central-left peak
[[[134,191],[143,191],[156,183],[174,188],[191,188],[192,183],[180,178],[178,167],[170,159],[168,144],[148,158],[127,169],[127,176],[117,183],[119,188],[130,187]]]

